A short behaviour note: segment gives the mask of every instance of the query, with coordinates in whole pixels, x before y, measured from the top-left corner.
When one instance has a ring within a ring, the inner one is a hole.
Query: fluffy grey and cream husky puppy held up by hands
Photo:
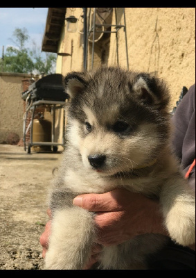
[[[45,269],[80,270],[97,231],[94,213],[73,206],[82,193],[126,188],[159,199],[164,225],[180,245],[195,243],[195,196],[170,149],[169,92],[147,73],[119,67],[71,72],[67,141],[49,193],[51,236]],[[103,247],[99,269],[148,269],[168,238],[136,236]]]

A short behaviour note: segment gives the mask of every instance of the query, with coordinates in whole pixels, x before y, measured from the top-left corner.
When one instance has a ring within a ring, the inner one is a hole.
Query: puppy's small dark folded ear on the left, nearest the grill
[[[82,72],[71,72],[64,77],[64,90],[70,97],[75,97],[86,88],[84,75]]]

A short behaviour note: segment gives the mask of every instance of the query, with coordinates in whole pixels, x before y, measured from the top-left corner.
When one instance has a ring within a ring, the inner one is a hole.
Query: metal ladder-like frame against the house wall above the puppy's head
[[[126,60],[127,60],[127,70],[129,70],[129,58],[128,58],[128,50],[127,50],[127,30],[126,30],[126,19],[125,19],[125,8],[123,8],[123,24],[117,24],[117,8],[111,8],[115,13],[115,24],[105,24],[105,20],[103,19],[100,24],[96,22],[96,17],[98,17],[98,9],[99,8],[89,8],[88,22],[87,22],[87,40],[86,47],[84,49],[84,70],[87,68],[87,52],[88,52],[88,43],[92,42],[92,53],[91,53],[91,69],[93,69],[94,62],[94,47],[96,43],[96,33],[100,33],[100,37],[103,33],[116,33],[116,59],[117,65],[119,65],[119,53],[118,53],[118,31],[123,28],[125,33],[125,51],[126,51]],[[107,28],[109,30],[107,30]],[[113,27],[113,28],[112,28]],[[114,31],[112,31],[114,30]]]

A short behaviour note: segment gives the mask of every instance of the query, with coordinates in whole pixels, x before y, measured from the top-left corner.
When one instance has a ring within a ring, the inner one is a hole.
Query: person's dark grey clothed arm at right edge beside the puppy
[[[195,159],[195,84],[190,86],[172,116],[172,148],[181,161],[184,175]],[[188,175],[188,183],[195,191],[195,166]]]

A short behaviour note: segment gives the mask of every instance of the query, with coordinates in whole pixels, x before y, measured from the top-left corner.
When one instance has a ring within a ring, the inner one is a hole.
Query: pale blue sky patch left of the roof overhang
[[[2,58],[3,46],[4,54],[6,47],[16,47],[10,40],[10,38],[14,40],[15,28],[27,29],[30,38],[26,47],[30,48],[33,40],[42,51],[47,14],[48,8],[0,8],[0,57]]]

